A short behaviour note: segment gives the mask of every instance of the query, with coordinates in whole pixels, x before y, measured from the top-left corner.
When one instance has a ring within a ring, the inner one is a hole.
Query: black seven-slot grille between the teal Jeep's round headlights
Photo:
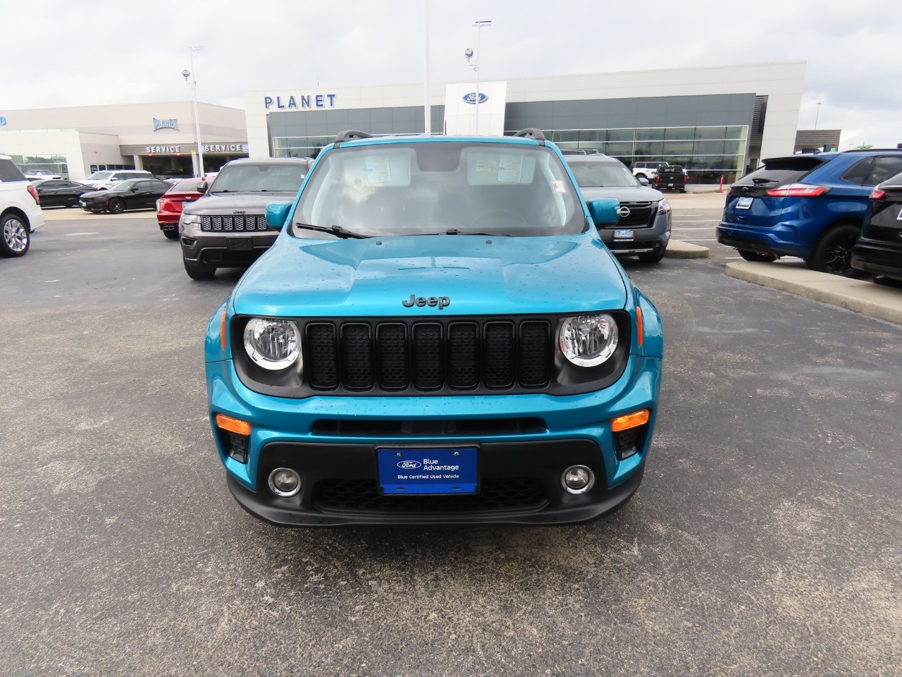
[[[316,391],[540,389],[554,356],[548,320],[314,320],[302,344]]]

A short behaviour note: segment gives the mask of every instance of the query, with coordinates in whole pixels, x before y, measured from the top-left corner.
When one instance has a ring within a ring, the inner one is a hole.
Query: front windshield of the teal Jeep
[[[373,144],[321,156],[299,224],[362,236],[573,235],[584,214],[557,154],[544,146],[465,142]]]

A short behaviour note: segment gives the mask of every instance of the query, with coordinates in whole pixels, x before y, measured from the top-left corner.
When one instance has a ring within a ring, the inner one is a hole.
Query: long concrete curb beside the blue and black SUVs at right
[[[817,273],[796,264],[727,264],[726,274],[737,280],[821,301],[878,320],[902,324],[902,290],[866,280]]]

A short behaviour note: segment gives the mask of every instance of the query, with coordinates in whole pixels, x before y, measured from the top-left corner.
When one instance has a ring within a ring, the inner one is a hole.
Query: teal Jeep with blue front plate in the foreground
[[[209,416],[272,524],[566,524],[639,487],[658,312],[538,130],[339,134],[207,329]]]

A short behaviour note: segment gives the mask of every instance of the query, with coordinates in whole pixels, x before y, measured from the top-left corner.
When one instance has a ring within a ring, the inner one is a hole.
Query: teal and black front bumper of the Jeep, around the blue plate
[[[611,511],[639,486],[660,373],[659,358],[632,356],[615,384],[581,395],[287,399],[250,391],[226,360],[207,363],[207,384],[229,488],[246,510],[272,524],[570,524]],[[640,409],[649,409],[651,418],[639,431],[638,452],[619,459],[611,420]],[[246,463],[227,455],[216,413],[251,423]],[[505,428],[504,422],[536,419],[542,424],[528,431]],[[474,422],[484,424],[478,434]],[[352,425],[344,431],[343,423]],[[411,445],[476,446],[481,493],[381,496],[376,449]],[[571,465],[592,468],[589,492],[564,490],[561,473]],[[298,470],[298,496],[269,490],[269,473],[283,466]]]

